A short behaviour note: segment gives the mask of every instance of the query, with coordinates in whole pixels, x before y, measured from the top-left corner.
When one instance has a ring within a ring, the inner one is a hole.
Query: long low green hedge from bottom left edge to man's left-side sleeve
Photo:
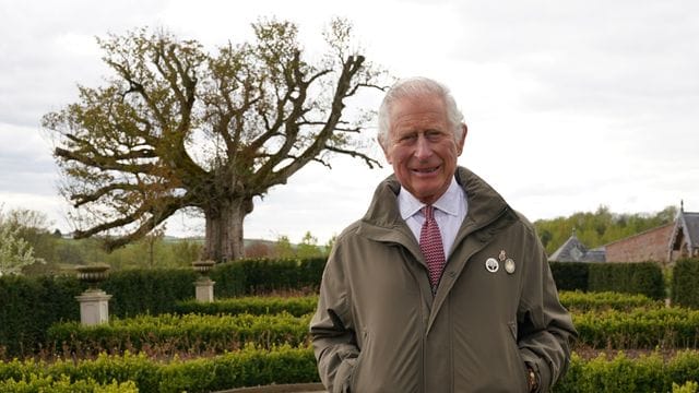
[[[72,381],[93,379],[102,384],[133,381],[140,392],[177,393],[319,380],[312,349],[291,346],[272,350],[246,346],[235,353],[189,360],[158,361],[144,354],[126,353],[123,356],[102,354],[94,360],[59,360],[50,365],[34,360],[0,362],[0,380],[59,379],[61,376],[68,376]]]

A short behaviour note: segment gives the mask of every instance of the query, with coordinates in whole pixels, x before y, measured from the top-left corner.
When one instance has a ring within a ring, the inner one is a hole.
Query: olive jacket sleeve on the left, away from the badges
[[[342,259],[333,250],[320,284],[318,309],[310,335],[320,379],[329,392],[350,392],[352,372],[359,355]]]

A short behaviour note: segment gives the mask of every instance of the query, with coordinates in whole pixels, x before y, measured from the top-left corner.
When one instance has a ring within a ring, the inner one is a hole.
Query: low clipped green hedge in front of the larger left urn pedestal
[[[201,356],[237,350],[246,344],[270,348],[282,344],[308,343],[310,315],[280,314],[159,314],[114,320],[108,324],[83,326],[60,323],[48,331],[49,347],[58,355],[78,357],[126,350],[150,355]]]

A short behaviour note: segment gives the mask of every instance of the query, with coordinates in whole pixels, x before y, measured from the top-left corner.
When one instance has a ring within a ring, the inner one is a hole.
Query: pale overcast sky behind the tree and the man
[[[214,48],[260,16],[296,22],[313,48],[332,16],[395,76],[451,87],[469,124],[460,164],[530,219],[600,205],[699,212],[699,1],[37,1],[0,0],[0,204],[71,230],[43,115],[110,75],[95,36],[165,27]],[[370,130],[369,132],[375,132]],[[370,153],[382,158],[375,147]],[[366,211],[390,167],[337,158],[273,188],[247,238],[322,243]],[[174,216],[170,235],[202,235]]]

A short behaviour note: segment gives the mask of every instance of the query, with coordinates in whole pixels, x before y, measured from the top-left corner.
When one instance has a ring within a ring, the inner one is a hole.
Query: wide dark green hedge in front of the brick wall
[[[558,290],[617,291],[665,298],[663,271],[657,263],[550,262]]]

